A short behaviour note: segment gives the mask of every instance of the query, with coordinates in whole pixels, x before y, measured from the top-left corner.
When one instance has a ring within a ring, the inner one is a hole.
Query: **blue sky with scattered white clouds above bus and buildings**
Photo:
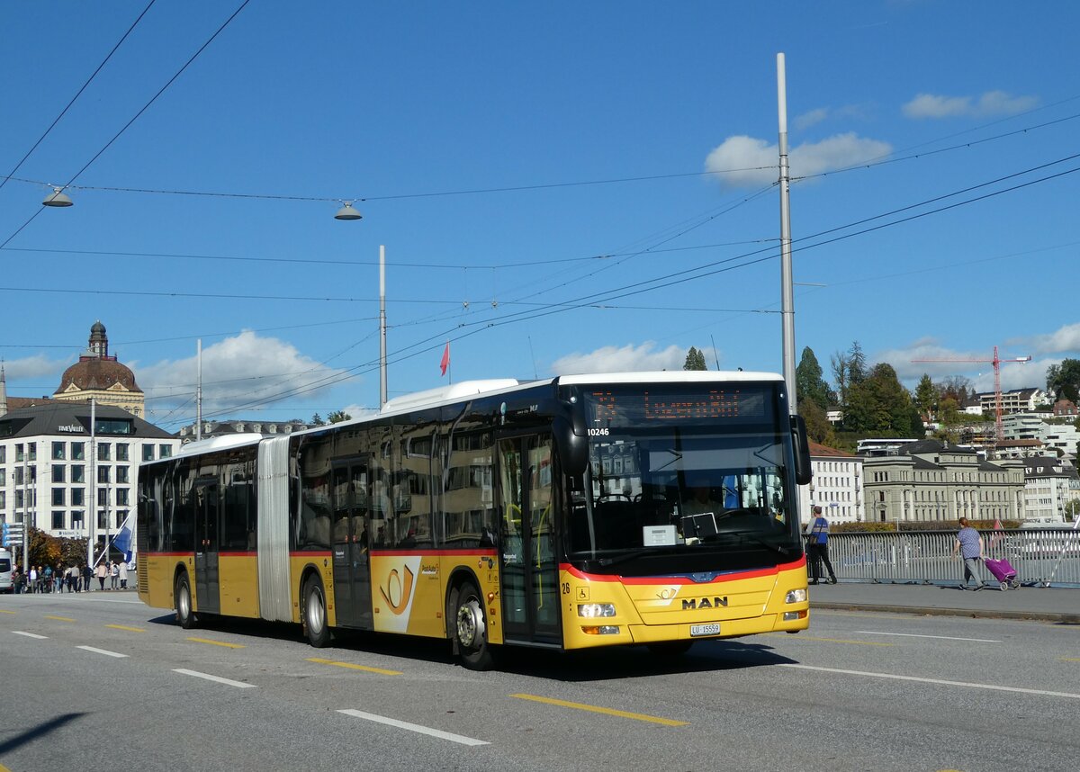
[[[148,0],[0,8],[10,394],[100,320],[166,429],[198,339],[208,416],[375,407],[380,244],[391,396],[779,371],[779,52],[796,351],[985,390],[910,361],[1080,355],[1080,5],[252,0],[170,84],[241,2],[157,0],[17,170]]]

